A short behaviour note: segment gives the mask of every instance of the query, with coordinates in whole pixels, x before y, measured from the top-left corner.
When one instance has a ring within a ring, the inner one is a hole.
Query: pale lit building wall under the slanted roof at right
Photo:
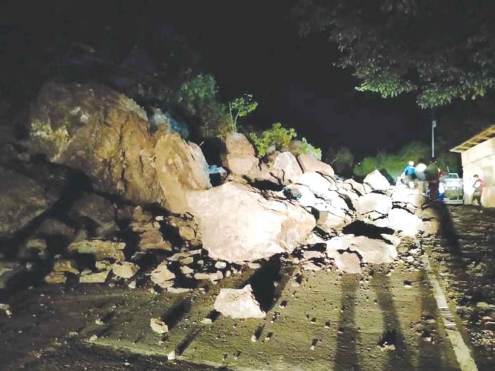
[[[478,174],[485,183],[481,205],[495,208],[495,138],[488,139],[462,152],[464,203],[472,203],[472,177]]]

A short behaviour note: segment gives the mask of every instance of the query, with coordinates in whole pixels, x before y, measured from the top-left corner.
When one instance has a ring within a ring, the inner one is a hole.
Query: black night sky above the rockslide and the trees
[[[91,33],[93,22],[128,21],[128,33],[140,24],[184,36],[206,61],[224,97],[252,92],[260,102],[252,117],[256,124],[282,121],[322,149],[346,145],[358,154],[427,140],[430,112],[417,108],[413,97],[383,100],[356,92],[351,72],[332,65],[338,55],[334,45],[322,35],[298,35],[288,18],[292,1],[105,1],[104,8],[102,1],[72,2],[79,6],[73,14],[67,5],[60,12],[56,1],[43,1],[45,6],[38,4],[28,14],[18,5],[8,19],[4,13],[3,45],[33,47],[43,42],[43,32],[46,37],[63,33],[64,25],[74,22]]]

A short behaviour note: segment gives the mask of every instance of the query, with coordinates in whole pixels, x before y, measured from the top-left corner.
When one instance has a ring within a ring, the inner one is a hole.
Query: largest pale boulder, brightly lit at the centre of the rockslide
[[[228,262],[292,252],[315,226],[301,206],[238,183],[188,193],[188,203],[203,247],[213,259]]]

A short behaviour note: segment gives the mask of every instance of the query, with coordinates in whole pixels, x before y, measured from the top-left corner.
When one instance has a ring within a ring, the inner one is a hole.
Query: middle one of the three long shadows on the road
[[[414,370],[390,292],[390,279],[383,272],[377,273],[371,279],[371,286],[375,290],[378,305],[383,313],[385,329],[383,338],[388,338],[389,343],[392,340],[395,346],[395,350],[388,352],[388,364],[385,365],[384,370]]]

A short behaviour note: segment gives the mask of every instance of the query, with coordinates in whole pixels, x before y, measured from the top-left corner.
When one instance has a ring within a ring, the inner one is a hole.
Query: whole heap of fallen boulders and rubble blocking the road
[[[228,176],[211,187],[200,147],[167,129],[150,134],[152,119],[107,87],[50,83],[41,90],[31,113],[28,152],[82,171],[96,190],[70,200],[70,210],[77,212],[64,212],[70,219],[64,224],[53,218],[50,208],[57,201],[46,188],[31,187],[36,190],[31,205],[12,186],[25,175],[10,174],[10,183],[0,177],[9,213],[19,214],[9,230],[0,230],[4,236],[34,218],[41,218],[31,228],[38,235],[50,230],[43,227],[49,220],[55,235],[64,236],[46,282],[77,276],[80,283],[103,283],[112,275],[132,288],[141,274],[161,289],[182,293],[275,254],[291,254],[292,263],[305,270],[335,266],[358,274],[363,264],[397,259],[403,237],[433,234],[439,225],[427,198],[391,186],[378,171],[358,183],[339,178],[331,166],[306,154],[275,151],[262,160],[239,133],[225,139],[220,156]],[[11,196],[18,200],[15,208],[7,203]],[[116,197],[127,204],[116,205]],[[161,214],[139,206],[153,203],[161,205]],[[73,228],[74,220],[85,225],[83,232]],[[171,230],[175,241],[166,233]],[[38,235],[23,246],[44,254],[50,239]],[[256,307],[248,286],[238,293],[221,291],[215,303],[231,316],[239,316],[235,308],[248,307]],[[262,315],[259,308],[252,313]]]

